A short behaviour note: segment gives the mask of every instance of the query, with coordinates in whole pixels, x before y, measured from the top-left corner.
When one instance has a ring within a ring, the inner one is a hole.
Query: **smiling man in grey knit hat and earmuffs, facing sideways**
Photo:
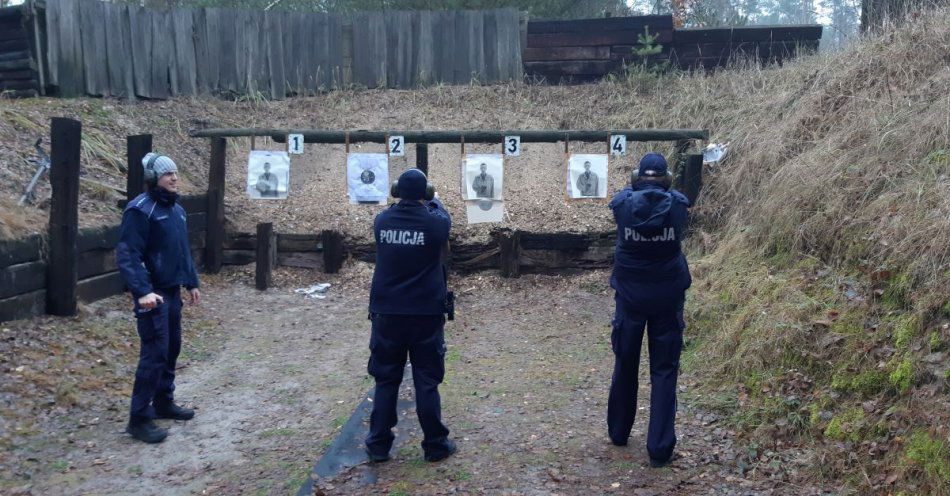
[[[145,193],[125,207],[116,264],[132,301],[141,348],[126,431],[146,443],[168,431],[155,418],[190,420],[194,411],[174,402],[175,362],[181,351],[181,287],[198,304],[198,274],[188,246],[185,209],[178,200],[178,167],[149,153],[142,159]]]

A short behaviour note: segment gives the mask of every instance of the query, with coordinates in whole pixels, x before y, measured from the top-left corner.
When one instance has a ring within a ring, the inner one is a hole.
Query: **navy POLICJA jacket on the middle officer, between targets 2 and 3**
[[[402,200],[376,216],[376,270],[369,311],[394,315],[445,312],[442,247],[452,217],[438,199]]]

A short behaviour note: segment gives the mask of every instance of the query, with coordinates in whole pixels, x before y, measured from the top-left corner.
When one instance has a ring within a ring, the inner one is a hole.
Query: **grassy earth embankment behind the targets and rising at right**
[[[731,143],[707,169],[693,209],[685,373],[691,401],[742,428],[761,456],[803,446],[799,477],[860,493],[950,491],[950,10],[784,67],[708,76],[631,71],[595,85],[502,85],[415,91],[335,91],[282,102],[208,99],[128,103],[0,102],[0,235],[42,230],[39,207],[16,207],[32,174],[23,162],[48,118],[84,125],[81,222],[115,223],[124,138],[151,132],[182,166],[186,191],[206,177],[195,127],[328,129],[579,129],[694,127]],[[258,148],[280,145],[261,143]],[[312,145],[294,163],[291,198],[243,194],[250,143],[231,140],[231,229],[275,222],[280,232],[336,228],[370,235],[375,209],[346,204],[342,146]],[[361,151],[376,151],[363,145]],[[605,146],[605,145],[604,145]],[[612,162],[618,189],[648,149]],[[601,151],[577,145],[574,151]],[[468,146],[467,152],[494,151]],[[430,147],[432,181],[461,211],[460,147]],[[563,149],[526,145],[507,164],[505,225],[533,231],[607,230],[603,204],[566,203]],[[397,161],[398,173],[413,157]],[[337,171],[337,172],[334,172]],[[456,238],[485,236],[461,214]],[[759,449],[759,447],[764,449]],[[766,462],[762,462],[766,463]],[[755,464],[751,466],[755,470]]]

